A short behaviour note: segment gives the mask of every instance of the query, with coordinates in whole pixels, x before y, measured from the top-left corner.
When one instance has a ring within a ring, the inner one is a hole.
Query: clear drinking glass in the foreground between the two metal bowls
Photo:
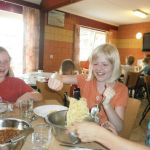
[[[32,133],[32,150],[48,150],[51,143],[51,127],[47,124],[39,124],[34,127]]]

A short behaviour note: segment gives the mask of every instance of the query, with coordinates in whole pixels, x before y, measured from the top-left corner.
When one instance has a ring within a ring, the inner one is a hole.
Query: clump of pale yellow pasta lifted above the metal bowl
[[[70,104],[67,112],[67,126],[72,125],[74,122],[81,122],[89,116],[89,109],[85,98],[77,100],[72,97],[68,97]]]

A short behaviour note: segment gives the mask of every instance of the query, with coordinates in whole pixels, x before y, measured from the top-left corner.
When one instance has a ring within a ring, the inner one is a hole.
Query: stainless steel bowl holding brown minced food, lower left
[[[24,130],[31,128],[31,125],[21,119],[16,118],[5,118],[0,119],[0,130],[6,129],[6,128],[14,128],[17,130]],[[21,150],[21,147],[23,146],[26,136],[18,137],[18,139],[10,140],[4,144],[0,144],[0,150]]]

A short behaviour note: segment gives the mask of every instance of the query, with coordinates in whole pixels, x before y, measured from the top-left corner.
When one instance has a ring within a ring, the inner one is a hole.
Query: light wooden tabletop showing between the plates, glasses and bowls
[[[40,102],[35,102],[34,103],[34,108],[42,105],[62,105],[59,101],[57,100],[42,100]],[[14,108],[14,111],[10,113],[11,117],[16,118],[16,114],[18,114],[18,108]],[[9,116],[9,115],[8,115]],[[34,128],[38,124],[43,124],[47,123],[45,121],[45,118],[38,116],[34,121],[31,121],[31,125]],[[21,148],[21,150],[32,150],[33,148],[33,143],[32,143],[32,134],[28,135],[26,138],[26,141]],[[48,150],[108,150],[105,146],[92,142],[92,143],[80,143],[77,145],[73,144],[63,144],[55,139],[55,137],[52,135],[51,142],[48,146]]]

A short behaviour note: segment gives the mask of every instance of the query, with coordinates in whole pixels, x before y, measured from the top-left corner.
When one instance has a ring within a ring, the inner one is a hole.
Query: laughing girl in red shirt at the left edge
[[[11,58],[7,50],[0,47],[0,98],[17,106],[23,100],[42,100],[41,94],[33,90],[23,80],[9,76],[10,61]]]

